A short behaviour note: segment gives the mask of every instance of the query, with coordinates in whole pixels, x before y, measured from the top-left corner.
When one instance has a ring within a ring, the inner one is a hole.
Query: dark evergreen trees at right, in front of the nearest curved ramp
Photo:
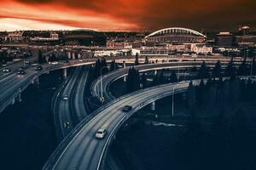
[[[256,101],[256,83],[252,79],[208,79],[198,86],[189,83],[187,100],[189,110],[207,108],[212,112],[240,107],[243,102]],[[238,108],[236,108],[238,109]]]

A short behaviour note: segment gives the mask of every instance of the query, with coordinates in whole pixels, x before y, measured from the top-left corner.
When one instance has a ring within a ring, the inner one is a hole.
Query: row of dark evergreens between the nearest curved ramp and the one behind
[[[136,59],[137,60],[137,59]],[[146,59],[147,61],[148,59]],[[158,71],[158,73],[154,76],[152,82],[147,82],[147,76],[145,73],[139,74],[135,68],[131,68],[128,72],[128,79],[126,82],[126,91],[127,93],[131,93],[139,88],[148,88],[150,86],[157,86],[160,84],[171,83],[171,82],[181,82],[183,80],[191,80],[191,79],[207,79],[212,78],[212,80],[219,79],[221,77],[231,77],[231,79],[235,79],[236,76],[248,76],[256,74],[256,62],[253,59],[252,62],[248,63],[246,59],[244,59],[238,68],[234,65],[233,59],[230,59],[230,62],[227,66],[223,66],[220,61],[216,62],[213,68],[207,66],[207,63],[203,61],[199,68],[192,67],[189,70],[189,75],[187,77],[177,76],[177,71],[172,70],[171,75],[166,77],[165,72],[168,71],[163,69]],[[136,82],[136,83],[135,83]]]

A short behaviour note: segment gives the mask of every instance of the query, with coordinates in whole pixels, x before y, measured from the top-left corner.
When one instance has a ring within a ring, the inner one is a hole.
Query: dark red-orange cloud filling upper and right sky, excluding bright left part
[[[185,26],[196,30],[236,30],[239,25],[256,28],[255,0],[17,0],[34,6],[61,5],[79,14],[84,10],[133,23],[142,30]],[[0,0],[1,2],[1,0]],[[59,9],[61,10],[61,8]],[[70,11],[65,10],[69,13]],[[47,19],[44,19],[47,20]],[[67,19],[68,20],[68,19]],[[58,22],[58,21],[56,21]],[[69,24],[72,25],[72,22]],[[79,26],[82,26],[80,23]]]

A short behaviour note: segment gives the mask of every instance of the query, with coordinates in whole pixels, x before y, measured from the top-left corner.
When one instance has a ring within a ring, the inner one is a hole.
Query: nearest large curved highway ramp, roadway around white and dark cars
[[[145,105],[172,95],[172,88],[176,85],[166,84],[139,90],[109,102],[74,128],[49,158],[44,169],[101,169],[102,162],[108,153],[108,145],[111,144],[119,127]],[[180,82],[175,93],[183,92],[188,87],[189,82]],[[131,105],[133,110],[129,113],[123,112],[122,108],[125,105]],[[96,130],[99,128],[108,129],[105,139],[95,138]]]

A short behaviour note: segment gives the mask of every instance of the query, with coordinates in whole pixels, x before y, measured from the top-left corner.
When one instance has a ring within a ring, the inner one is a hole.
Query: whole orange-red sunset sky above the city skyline
[[[256,29],[255,0],[0,0],[0,31]]]

